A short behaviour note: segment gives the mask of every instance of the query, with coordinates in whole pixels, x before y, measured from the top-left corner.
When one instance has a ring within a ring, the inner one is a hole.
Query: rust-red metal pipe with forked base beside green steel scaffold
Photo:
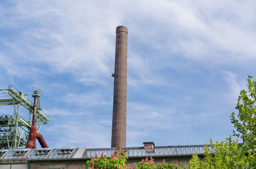
[[[32,120],[32,126],[29,130],[29,142],[26,147],[27,149],[36,149],[36,138],[42,148],[48,148],[48,145],[45,142],[44,137],[40,133],[36,132],[36,105],[37,105],[38,96],[39,96],[38,91],[34,91],[33,120]]]

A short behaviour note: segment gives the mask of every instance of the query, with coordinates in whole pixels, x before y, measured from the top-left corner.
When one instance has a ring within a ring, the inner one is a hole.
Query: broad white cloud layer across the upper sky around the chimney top
[[[190,1],[104,1],[100,4],[96,1],[22,1],[9,7],[12,9],[9,24],[3,13],[1,19],[6,27],[19,31],[14,41],[5,40],[15,59],[22,57],[31,64],[44,62],[51,71],[74,73],[78,82],[83,84],[104,85],[106,77],[113,72],[115,27],[122,23],[127,24],[129,37],[141,45],[178,52],[183,55],[181,57],[217,63],[255,58],[253,44],[256,34],[253,29],[246,29],[254,20],[250,8],[252,3],[209,1],[192,5]],[[234,15],[232,10],[239,12]],[[246,16],[244,13],[247,11],[249,15]],[[132,50],[129,51],[129,71],[138,73],[132,74],[129,82],[163,82],[163,79],[154,80],[158,72],[151,69],[159,69],[155,62],[162,64],[171,59],[162,53],[157,58],[153,55],[140,56],[132,44],[129,46]],[[230,54],[221,55],[223,51]],[[15,65],[13,67],[22,66],[20,69],[27,66],[17,61],[12,64]],[[11,70],[8,73],[13,75]]]

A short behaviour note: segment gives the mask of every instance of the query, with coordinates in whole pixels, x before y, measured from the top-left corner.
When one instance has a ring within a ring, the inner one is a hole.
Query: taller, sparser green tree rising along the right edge
[[[233,131],[234,135],[242,138],[248,150],[254,152],[256,147],[256,82],[252,78],[248,76],[248,90],[242,90],[238,97],[237,117],[233,112],[230,118],[236,128],[236,131]]]

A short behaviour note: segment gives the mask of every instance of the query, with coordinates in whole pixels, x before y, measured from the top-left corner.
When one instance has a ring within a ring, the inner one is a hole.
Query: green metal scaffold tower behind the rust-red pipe
[[[13,106],[12,115],[0,115],[0,149],[20,149],[28,143],[29,128],[32,124],[33,103],[27,94],[9,85],[8,89],[0,89],[0,106]],[[28,110],[28,120],[20,117],[20,106]],[[40,131],[42,124],[48,124],[49,117],[42,111],[40,102],[36,110],[36,130]]]

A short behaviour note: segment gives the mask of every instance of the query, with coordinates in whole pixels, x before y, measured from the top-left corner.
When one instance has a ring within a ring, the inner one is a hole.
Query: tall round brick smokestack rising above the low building
[[[126,147],[127,34],[127,27],[116,27],[111,147]]]

